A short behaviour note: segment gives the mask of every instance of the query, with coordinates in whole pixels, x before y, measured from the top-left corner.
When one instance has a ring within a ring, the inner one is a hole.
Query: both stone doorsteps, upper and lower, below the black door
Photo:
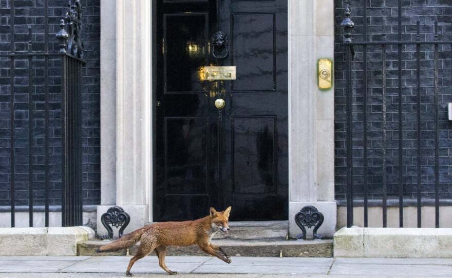
[[[270,256],[281,253],[285,257],[332,257],[332,240],[286,240],[289,231],[289,221],[235,221],[230,222],[230,233],[217,233],[213,243],[221,246],[232,256]],[[301,232],[301,230],[300,230]],[[115,231],[115,235],[116,235]],[[308,236],[311,235],[308,232]],[[126,255],[127,250],[96,253],[101,246],[110,243],[109,240],[85,241],[78,244],[78,255]],[[138,243],[139,245],[139,243]],[[128,253],[134,255],[138,245],[129,248]],[[155,252],[151,253],[154,254]],[[167,255],[202,255],[206,254],[198,246],[168,247]]]

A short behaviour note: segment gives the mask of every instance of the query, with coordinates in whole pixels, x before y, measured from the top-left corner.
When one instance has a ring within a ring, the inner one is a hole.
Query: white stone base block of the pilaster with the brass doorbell
[[[295,239],[302,230],[295,223],[295,214],[305,206],[314,206],[319,212],[322,212],[325,220],[317,233],[327,238],[332,238],[336,232],[337,204],[336,202],[289,202],[289,236]],[[312,238],[312,230],[307,230],[307,238]]]

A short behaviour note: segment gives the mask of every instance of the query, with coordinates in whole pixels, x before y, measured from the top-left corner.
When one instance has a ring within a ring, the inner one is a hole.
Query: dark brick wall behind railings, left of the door
[[[10,1],[0,0],[0,53],[10,51]],[[55,34],[67,1],[48,0],[50,51],[58,50]],[[28,25],[32,27],[32,49],[44,50],[44,0],[15,0],[15,51],[28,50]],[[83,0],[82,42],[87,62],[83,68],[83,204],[100,204],[100,1]],[[15,184],[16,205],[28,205],[29,100],[28,59],[17,58],[15,71]],[[44,58],[33,58],[33,194],[35,205],[44,205]],[[61,95],[60,62],[49,61],[49,177],[50,205],[61,204]],[[0,59],[0,206],[10,205],[11,107],[10,62]]]

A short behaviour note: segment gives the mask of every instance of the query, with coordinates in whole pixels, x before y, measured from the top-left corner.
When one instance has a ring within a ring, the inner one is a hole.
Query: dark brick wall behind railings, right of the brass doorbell
[[[367,37],[363,36],[363,5],[367,3]],[[344,200],[346,193],[346,106],[345,55],[343,29],[345,1],[335,1],[335,194]],[[450,41],[452,35],[452,1],[403,0],[403,40],[416,41],[416,22],[421,24],[421,41],[432,41],[434,22],[439,23],[439,39]],[[398,40],[397,0],[352,0],[353,41]],[[354,192],[363,198],[363,47],[354,47],[353,62],[353,171]],[[452,198],[452,124],[447,121],[447,103],[452,102],[450,45],[439,47],[439,183],[440,198]],[[367,48],[367,169],[369,197],[381,200],[383,183],[382,161],[382,48]],[[387,47],[387,185],[388,198],[398,198],[399,172],[403,173],[405,198],[416,198],[417,187],[417,90],[416,46],[402,49],[402,157],[399,169],[399,83],[398,47]],[[434,48],[421,47],[421,183],[423,198],[434,198],[435,192],[435,105],[434,105]]]

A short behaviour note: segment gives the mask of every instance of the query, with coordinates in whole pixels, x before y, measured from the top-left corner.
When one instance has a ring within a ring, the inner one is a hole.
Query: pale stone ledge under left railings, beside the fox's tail
[[[88,227],[0,228],[0,255],[77,255],[77,243],[94,238]]]

